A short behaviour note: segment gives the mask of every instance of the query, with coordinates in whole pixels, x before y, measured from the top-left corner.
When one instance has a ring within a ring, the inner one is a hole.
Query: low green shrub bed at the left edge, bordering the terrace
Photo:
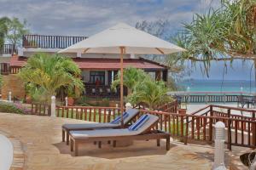
[[[3,101],[0,102],[0,112],[25,114],[25,111],[19,105]]]

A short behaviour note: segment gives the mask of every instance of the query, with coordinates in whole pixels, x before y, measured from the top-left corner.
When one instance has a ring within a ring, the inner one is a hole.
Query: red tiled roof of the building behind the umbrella
[[[26,57],[13,56],[10,59],[10,66],[20,67],[26,65]],[[92,59],[92,58],[74,58],[73,61],[84,70],[119,70],[120,59]],[[145,70],[164,70],[166,66],[160,65],[148,59],[124,59],[124,67],[135,67]]]

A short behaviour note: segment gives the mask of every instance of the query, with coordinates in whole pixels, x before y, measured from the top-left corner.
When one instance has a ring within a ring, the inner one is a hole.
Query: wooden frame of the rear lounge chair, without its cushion
[[[128,127],[128,125],[135,119],[135,117],[139,114],[139,111],[137,111],[137,114],[134,114],[134,116],[131,117],[129,122],[126,122],[126,124],[124,125],[124,127]],[[121,125],[117,126],[117,127],[93,127],[93,128],[76,128],[76,129],[72,129],[72,128],[67,128],[67,127],[61,127],[62,128],[62,142],[65,142],[65,133],[66,133],[66,144],[69,144],[69,132],[70,131],[82,131],[82,130],[94,130],[94,129],[101,129],[101,128],[121,128]]]

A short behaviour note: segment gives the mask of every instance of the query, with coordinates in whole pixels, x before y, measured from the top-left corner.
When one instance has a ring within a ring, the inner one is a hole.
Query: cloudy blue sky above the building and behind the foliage
[[[169,20],[174,34],[195,13],[218,7],[220,0],[0,0],[0,17],[26,20],[33,34],[88,36],[119,22],[135,26],[138,21]],[[250,69],[233,63],[227,79],[247,79]],[[210,78],[222,78],[222,64],[212,64]],[[200,69],[191,77],[206,78]]]

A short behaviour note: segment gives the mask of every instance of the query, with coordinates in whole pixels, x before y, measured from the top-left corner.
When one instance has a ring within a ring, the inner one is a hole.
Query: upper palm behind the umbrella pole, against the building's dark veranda
[[[137,84],[137,82],[142,81],[148,77],[148,75],[141,69],[129,67],[124,70],[124,85],[128,88],[128,94],[131,94],[133,88]],[[116,90],[116,88],[120,84],[120,72],[118,72],[117,77],[111,84],[111,88]]]

